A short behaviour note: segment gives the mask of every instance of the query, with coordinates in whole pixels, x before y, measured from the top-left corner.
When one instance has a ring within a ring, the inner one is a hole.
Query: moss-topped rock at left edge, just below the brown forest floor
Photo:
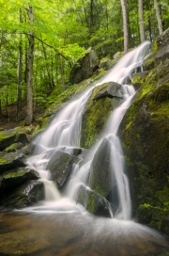
[[[28,143],[29,140],[22,127],[0,132],[0,151],[4,151],[13,143]]]

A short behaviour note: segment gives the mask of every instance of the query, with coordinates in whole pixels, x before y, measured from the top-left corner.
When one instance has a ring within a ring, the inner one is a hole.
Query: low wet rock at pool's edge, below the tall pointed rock
[[[81,186],[77,202],[93,215],[111,217],[111,203],[91,189]]]

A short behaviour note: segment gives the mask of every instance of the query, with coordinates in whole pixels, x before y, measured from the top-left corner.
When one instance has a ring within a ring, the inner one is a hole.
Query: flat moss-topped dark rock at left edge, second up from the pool
[[[18,168],[10,171],[1,177],[1,189],[8,191],[28,180],[38,180],[39,174],[34,169]]]

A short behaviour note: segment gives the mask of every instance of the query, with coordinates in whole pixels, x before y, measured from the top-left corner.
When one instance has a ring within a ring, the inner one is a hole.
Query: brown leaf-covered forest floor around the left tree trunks
[[[38,125],[38,119],[43,116],[44,108],[42,106],[36,106],[36,109],[34,109],[33,114],[33,126]],[[0,130],[8,130],[13,129],[17,126],[23,126],[24,120],[26,117],[26,107],[23,107],[22,109],[22,117],[21,120],[16,119],[16,104],[10,104],[8,105],[8,111],[3,110],[2,111],[3,117],[0,118]]]

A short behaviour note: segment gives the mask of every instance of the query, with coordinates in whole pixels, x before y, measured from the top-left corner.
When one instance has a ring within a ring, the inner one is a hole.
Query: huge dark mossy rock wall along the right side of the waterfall
[[[133,216],[169,235],[169,60],[151,70],[119,127]]]

